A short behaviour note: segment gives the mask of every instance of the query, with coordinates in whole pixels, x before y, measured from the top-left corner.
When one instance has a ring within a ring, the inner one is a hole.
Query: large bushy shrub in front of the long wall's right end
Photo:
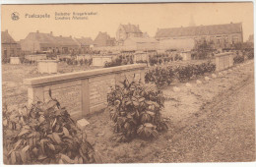
[[[153,85],[129,83],[125,79],[111,88],[107,102],[106,110],[115,123],[114,131],[119,135],[117,141],[129,141],[136,137],[152,139],[158,136],[158,132],[167,130],[160,117],[164,98]]]

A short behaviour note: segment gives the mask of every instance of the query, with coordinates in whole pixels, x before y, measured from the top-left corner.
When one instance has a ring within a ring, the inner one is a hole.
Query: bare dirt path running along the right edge
[[[151,162],[230,162],[255,160],[253,66],[241,82],[204,105],[169,139]],[[185,126],[186,125],[186,126]]]

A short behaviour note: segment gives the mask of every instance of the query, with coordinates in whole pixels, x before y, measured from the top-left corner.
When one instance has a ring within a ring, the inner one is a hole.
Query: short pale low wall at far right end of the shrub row
[[[233,66],[233,52],[216,54],[216,71],[222,71]]]

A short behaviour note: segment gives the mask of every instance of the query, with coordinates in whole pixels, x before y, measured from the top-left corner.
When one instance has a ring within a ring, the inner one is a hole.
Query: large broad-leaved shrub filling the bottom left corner
[[[37,102],[16,112],[3,108],[3,127],[4,140],[10,139],[5,144],[5,163],[100,162],[93,146],[56,99]]]

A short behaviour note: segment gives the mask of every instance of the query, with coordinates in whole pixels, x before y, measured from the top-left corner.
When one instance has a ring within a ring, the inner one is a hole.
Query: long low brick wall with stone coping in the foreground
[[[41,78],[26,79],[29,105],[34,101],[47,101],[48,90],[75,118],[103,109],[110,86],[128,78],[144,82],[146,65],[133,64],[91,71],[67,73]]]

